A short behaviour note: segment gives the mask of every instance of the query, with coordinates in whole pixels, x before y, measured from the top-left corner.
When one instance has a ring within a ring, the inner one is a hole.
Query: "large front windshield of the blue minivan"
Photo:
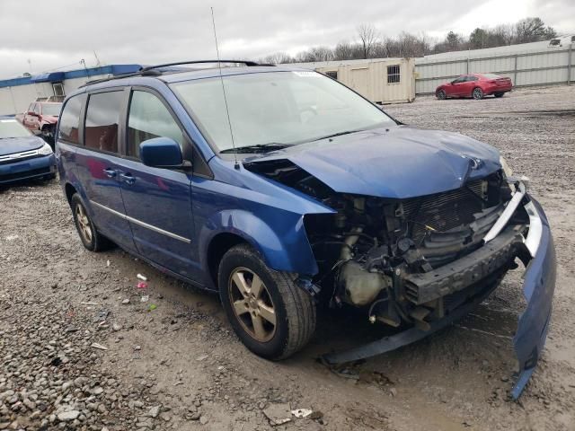
[[[349,131],[394,125],[382,110],[316,72],[225,76],[235,148],[297,144]],[[232,148],[220,78],[171,84],[208,140]]]

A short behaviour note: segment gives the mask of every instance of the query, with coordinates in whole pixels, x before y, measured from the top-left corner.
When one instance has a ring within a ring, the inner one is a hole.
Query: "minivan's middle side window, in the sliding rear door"
[[[86,109],[84,145],[95,150],[118,153],[119,110],[124,92],[91,94]]]

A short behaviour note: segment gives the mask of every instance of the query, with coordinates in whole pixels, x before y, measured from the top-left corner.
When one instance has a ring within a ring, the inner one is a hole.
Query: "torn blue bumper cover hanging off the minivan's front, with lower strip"
[[[529,377],[533,374],[537,360],[541,356],[544,347],[549,321],[551,320],[556,274],[555,248],[549,222],[543,208],[526,193],[526,184],[523,182],[517,184],[517,191],[514,197],[509,201],[508,206],[500,216],[498,223],[493,226],[492,231],[485,235],[484,241],[490,242],[496,238],[520,205],[525,207],[529,216],[529,232],[523,244],[525,246],[523,247],[524,250],[519,256],[526,264],[523,293],[527,306],[525,312],[519,317],[516,335],[513,339],[519,364],[517,383],[511,391],[512,397],[516,400],[525,388]],[[431,322],[429,330],[411,328],[384,339],[376,340],[365,346],[325,355],[323,359],[328,364],[341,364],[380,355],[426,338],[432,332],[445,328],[448,324],[473,310],[475,306],[491,294],[491,291],[483,292],[482,295],[474,298],[473,302],[466,303],[445,318]]]

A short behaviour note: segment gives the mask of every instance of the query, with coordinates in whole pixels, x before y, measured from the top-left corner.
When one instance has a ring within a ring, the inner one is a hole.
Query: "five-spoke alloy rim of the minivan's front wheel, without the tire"
[[[235,317],[253,339],[266,342],[276,333],[276,309],[260,277],[248,268],[235,268],[228,292]]]

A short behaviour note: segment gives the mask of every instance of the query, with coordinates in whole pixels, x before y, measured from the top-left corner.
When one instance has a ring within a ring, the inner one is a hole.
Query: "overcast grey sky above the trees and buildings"
[[[559,32],[575,32],[573,0],[0,0],[0,78],[61,68],[84,58],[103,64],[154,64],[214,58],[209,6],[216,13],[222,58],[257,59],[354,40],[359,23],[384,36],[447,31],[539,16]],[[65,67],[66,66],[66,67]]]

